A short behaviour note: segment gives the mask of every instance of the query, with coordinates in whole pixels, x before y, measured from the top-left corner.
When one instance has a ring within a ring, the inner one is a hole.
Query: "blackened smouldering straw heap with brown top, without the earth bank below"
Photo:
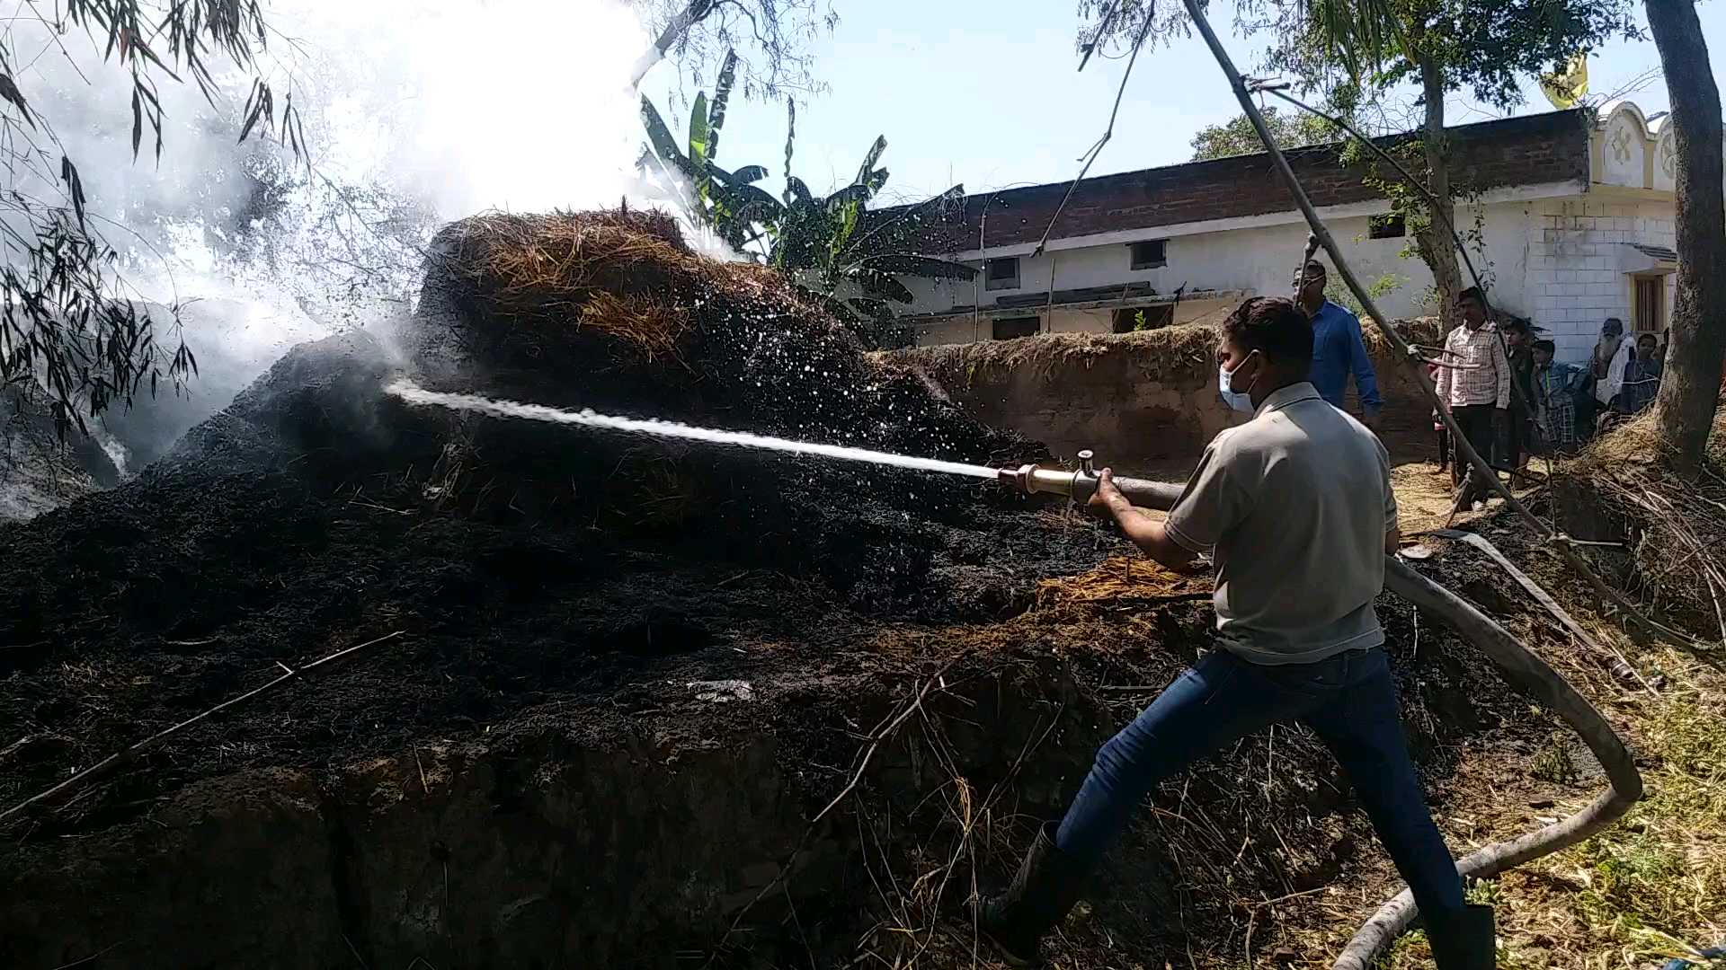
[[[240,766],[395,751],[651,659],[841,635],[865,618],[986,620],[1093,564],[963,480],[413,409],[395,375],[611,413],[973,463],[1037,459],[877,364],[773,273],[690,254],[663,216],[494,216],[440,236],[399,350],[295,349],[112,492],[0,532],[0,720],[54,739],[0,801],[52,784],[293,663],[375,633],[411,647],[264,702],[243,744],[55,815],[124,816]]]

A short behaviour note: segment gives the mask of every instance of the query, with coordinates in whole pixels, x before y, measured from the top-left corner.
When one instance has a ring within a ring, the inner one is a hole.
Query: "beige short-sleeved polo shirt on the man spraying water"
[[[1389,456],[1310,383],[1274,392],[1217,435],[1169,511],[1169,537],[1217,563],[1217,640],[1262,665],[1376,647]]]

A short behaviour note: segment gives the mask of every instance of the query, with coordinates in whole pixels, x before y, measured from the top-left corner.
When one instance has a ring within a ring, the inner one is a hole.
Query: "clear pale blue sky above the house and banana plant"
[[[1084,72],[1075,71],[1074,7],[1060,0],[834,0],[839,28],[813,45],[815,72],[828,91],[797,105],[794,169],[815,192],[847,183],[880,133],[889,142],[882,162],[892,173],[889,198],[920,198],[960,181],[968,192],[987,192],[1072,178],[1079,155],[1108,123],[1125,69],[1125,60],[1093,59]],[[1714,76],[1726,86],[1726,3],[1705,0],[1697,12]],[[1219,28],[1229,26],[1231,7],[1213,5],[1213,17]],[[1243,71],[1258,67],[1263,40],[1232,36],[1227,43]],[[1612,43],[1590,59],[1590,90],[1616,91],[1659,66],[1652,40]],[[659,66],[644,86],[665,107],[670,85],[670,66]],[[1550,110],[1533,83],[1528,90],[1533,100],[1517,114]],[[1659,76],[1628,97],[1650,112],[1666,109]],[[1193,135],[1236,112],[1222,71],[1196,36],[1146,50],[1115,138],[1091,173],[1187,161]],[[671,114],[687,119],[687,109]],[[1452,97],[1453,124],[1493,116]],[[777,183],[784,145],[784,104],[734,104],[718,161],[763,164]]]

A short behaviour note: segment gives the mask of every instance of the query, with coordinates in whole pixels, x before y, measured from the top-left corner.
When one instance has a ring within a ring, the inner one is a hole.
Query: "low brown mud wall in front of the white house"
[[[1398,323],[1429,342],[1429,321]],[[1431,411],[1414,376],[1367,326],[1393,449],[1431,447]],[[1239,423],[1217,395],[1215,331],[1203,324],[1144,333],[1058,333],[896,350],[891,359],[939,385],[986,425],[1011,428],[1070,459],[1094,449],[1110,463],[1193,459]],[[1358,414],[1350,381],[1350,411]]]

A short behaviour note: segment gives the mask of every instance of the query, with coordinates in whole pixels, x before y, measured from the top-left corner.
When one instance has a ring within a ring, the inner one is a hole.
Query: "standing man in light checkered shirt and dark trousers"
[[[1491,461],[1493,444],[1509,431],[1510,361],[1498,342],[1498,328],[1486,323],[1486,297],[1477,287],[1457,297],[1457,309],[1462,311],[1462,326],[1445,337],[1448,366],[1438,369],[1438,397],[1474,450]],[[1462,502],[1483,502],[1490,485],[1462,456],[1462,442],[1457,442],[1455,463],[1467,471]]]

